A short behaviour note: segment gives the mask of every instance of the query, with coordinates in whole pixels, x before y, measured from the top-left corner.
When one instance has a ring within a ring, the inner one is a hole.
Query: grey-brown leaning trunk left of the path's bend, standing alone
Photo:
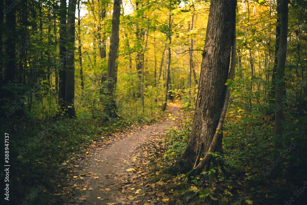
[[[110,95],[110,102],[107,112],[110,117],[116,117],[117,107],[115,101],[115,92],[117,81],[116,55],[119,44],[119,17],[120,5],[122,0],[114,0],[113,16],[112,16],[112,34],[110,39],[110,52],[107,66],[107,90]]]

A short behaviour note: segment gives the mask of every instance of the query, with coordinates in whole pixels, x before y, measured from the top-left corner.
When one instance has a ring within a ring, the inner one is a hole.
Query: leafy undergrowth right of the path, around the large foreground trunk
[[[296,109],[289,105],[284,108],[287,121],[283,123],[283,136],[279,138],[283,148],[276,152],[274,112],[268,112],[270,109],[257,104],[252,107],[232,104],[227,110],[222,130],[223,153],[212,153],[214,159],[220,161],[215,164],[221,166],[210,164],[208,171],[189,179],[185,174],[169,174],[168,178],[177,179],[166,186],[167,196],[174,199],[171,203],[282,204],[290,200],[307,179],[307,129],[304,125],[307,118],[297,118]],[[161,179],[159,173],[165,173],[162,170],[181,156],[188,142],[187,128],[192,125],[187,125],[187,122],[191,123],[191,120],[179,117],[177,122],[165,131],[168,147],[156,160],[155,179]],[[275,153],[282,158],[282,176],[271,180],[270,171],[276,166],[276,162],[272,161]],[[295,198],[293,204],[305,201],[303,192],[296,194],[299,198]]]

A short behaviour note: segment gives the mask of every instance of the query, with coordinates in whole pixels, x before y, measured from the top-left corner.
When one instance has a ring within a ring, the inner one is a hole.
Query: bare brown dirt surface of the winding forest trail
[[[146,190],[142,186],[142,182],[131,179],[133,176],[141,174],[141,171],[129,172],[129,169],[135,168],[131,164],[134,160],[133,153],[138,152],[139,146],[146,146],[147,137],[163,131],[165,126],[172,122],[173,120],[166,120],[159,124],[150,125],[146,130],[130,134],[124,139],[108,144],[108,148],[92,149],[88,156],[78,162],[79,173],[76,175],[83,177],[81,178],[83,182],[76,180],[82,185],[78,189],[79,193],[74,197],[76,201],[73,204],[155,204],[154,201],[148,202],[153,199],[153,196],[145,194]],[[141,152],[138,154],[142,155]],[[127,169],[128,171],[126,171]],[[141,189],[140,194],[135,194],[139,189]]]

